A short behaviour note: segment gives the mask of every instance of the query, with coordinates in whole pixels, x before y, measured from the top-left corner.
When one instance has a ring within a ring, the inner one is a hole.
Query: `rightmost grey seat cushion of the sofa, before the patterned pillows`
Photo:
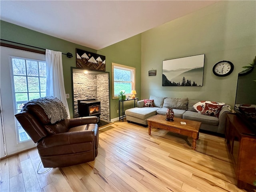
[[[202,122],[202,123],[208,124],[208,125],[218,125],[219,124],[219,118],[202,115],[198,112],[193,112],[193,111],[184,112],[182,118],[188,119],[188,120],[193,120],[193,121],[199,121],[199,122]]]

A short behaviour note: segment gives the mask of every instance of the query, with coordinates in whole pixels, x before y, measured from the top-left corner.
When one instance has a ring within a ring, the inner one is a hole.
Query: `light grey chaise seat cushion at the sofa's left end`
[[[125,110],[125,114],[127,116],[136,117],[139,119],[146,119],[149,118],[152,115],[156,114],[156,110],[158,110],[158,107],[135,107]]]

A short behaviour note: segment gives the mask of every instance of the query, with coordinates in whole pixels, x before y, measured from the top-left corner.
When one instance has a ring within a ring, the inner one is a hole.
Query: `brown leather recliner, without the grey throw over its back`
[[[89,162],[98,154],[96,116],[64,119],[51,124],[43,108],[30,103],[15,117],[37,143],[44,167],[65,167]]]

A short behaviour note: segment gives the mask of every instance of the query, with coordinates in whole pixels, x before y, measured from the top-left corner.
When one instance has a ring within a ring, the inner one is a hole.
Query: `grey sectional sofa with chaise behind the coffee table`
[[[198,103],[199,100],[157,96],[150,96],[149,99],[154,100],[154,107],[144,107],[144,100],[140,100],[137,102],[137,107],[125,111],[126,120],[147,126],[148,118],[156,114],[165,115],[167,108],[172,107],[174,117],[202,122],[200,127],[202,130],[220,134],[225,132],[226,113],[230,112],[227,106],[222,107],[219,117],[214,117],[200,114],[193,108],[193,105]]]

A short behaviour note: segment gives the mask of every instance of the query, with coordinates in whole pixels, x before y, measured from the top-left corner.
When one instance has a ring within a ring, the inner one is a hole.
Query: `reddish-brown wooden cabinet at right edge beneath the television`
[[[236,114],[227,114],[226,143],[234,161],[237,186],[256,188],[256,136]]]

